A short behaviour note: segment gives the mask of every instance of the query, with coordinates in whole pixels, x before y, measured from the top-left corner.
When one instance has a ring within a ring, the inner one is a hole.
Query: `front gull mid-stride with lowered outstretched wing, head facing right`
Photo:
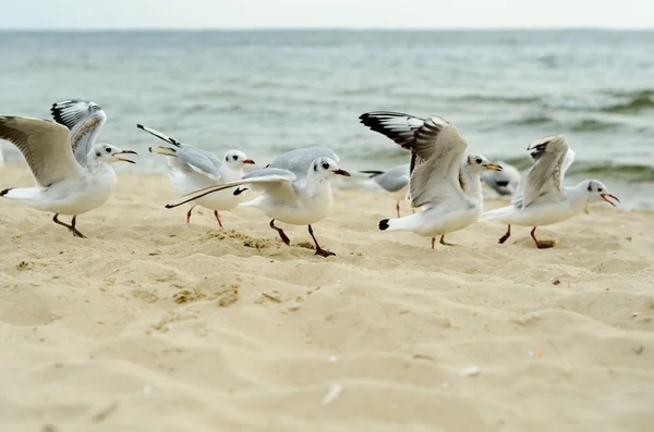
[[[179,201],[166,205],[166,208],[178,207],[218,190],[250,185],[255,192],[263,194],[239,207],[256,207],[268,218],[272,218],[270,227],[277,231],[287,245],[291,242],[275,225],[276,220],[292,225],[308,225],[308,234],[316,245],[316,255],[326,258],[336,254],[320,247],[311,225],[325,219],[331,210],[334,201],[330,180],[335,175],[350,176],[350,173],[338,168],[338,156],[327,148],[295,149],[278,157],[266,168],[245,174],[240,181],[186,194]],[[238,195],[242,190],[244,189],[238,188],[233,194]]]

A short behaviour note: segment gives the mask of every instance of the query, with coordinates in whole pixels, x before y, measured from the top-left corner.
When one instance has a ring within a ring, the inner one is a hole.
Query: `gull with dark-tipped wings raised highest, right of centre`
[[[457,127],[438,115],[419,119],[398,112],[374,111],[362,114],[361,123],[411,150],[411,207],[415,214],[383,219],[382,231],[410,231],[423,237],[436,236],[440,244],[445,235],[476,222],[483,209],[480,173],[501,171],[482,155],[463,155],[468,144]]]

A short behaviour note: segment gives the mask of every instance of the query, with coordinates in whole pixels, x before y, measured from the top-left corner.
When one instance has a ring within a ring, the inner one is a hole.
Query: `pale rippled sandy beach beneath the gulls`
[[[652,211],[592,208],[540,229],[547,250],[491,222],[432,250],[377,230],[392,199],[337,189],[324,259],[306,227],[186,225],[173,198],[119,173],[86,239],[0,199],[2,431],[652,430]]]

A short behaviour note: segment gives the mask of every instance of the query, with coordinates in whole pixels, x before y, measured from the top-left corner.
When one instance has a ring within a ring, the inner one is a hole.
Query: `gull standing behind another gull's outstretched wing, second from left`
[[[239,150],[229,150],[220,159],[210,151],[182,144],[150,127],[141,124],[137,124],[136,127],[174,146],[174,148],[150,147],[149,151],[169,157],[170,184],[180,196],[193,190],[241,180],[243,178],[243,165],[246,163],[254,164],[252,159],[247,159],[245,153]],[[231,189],[198,198],[190,202],[191,208],[186,213],[186,223],[191,222],[193,208],[199,205],[201,207],[214,210],[214,215],[220,227],[222,227],[218,211],[232,210],[242,201],[243,196],[234,195]]]

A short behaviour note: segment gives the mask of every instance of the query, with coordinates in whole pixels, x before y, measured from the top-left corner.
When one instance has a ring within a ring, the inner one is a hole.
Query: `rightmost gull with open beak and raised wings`
[[[552,240],[538,242],[536,227],[566,221],[584,211],[592,203],[606,201],[617,207],[609,198],[620,200],[596,180],[584,180],[573,187],[564,187],[566,171],[574,161],[566,137],[553,135],[534,141],[526,148],[531,151],[532,166],[525,171],[511,205],[485,212],[482,221],[500,221],[508,230],[499,243],[511,235],[511,225],[533,226],[531,236],[538,249],[554,246]]]

